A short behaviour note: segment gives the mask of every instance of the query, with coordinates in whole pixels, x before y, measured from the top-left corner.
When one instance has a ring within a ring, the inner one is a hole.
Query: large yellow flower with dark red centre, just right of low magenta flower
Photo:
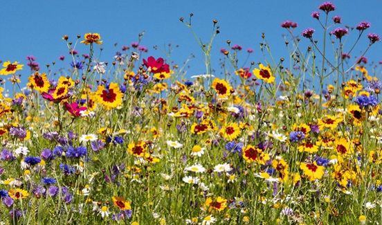
[[[118,84],[114,82],[111,82],[109,89],[105,89],[104,85],[99,85],[96,92],[98,102],[108,110],[122,105],[122,97],[123,93],[120,92]]]

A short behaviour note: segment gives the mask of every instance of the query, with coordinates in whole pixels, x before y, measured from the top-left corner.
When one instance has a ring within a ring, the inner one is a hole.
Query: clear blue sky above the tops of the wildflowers
[[[381,0],[368,1],[333,1],[337,10],[331,12],[331,17],[340,15],[343,24],[356,26],[360,21],[369,21],[372,27],[366,33],[382,35]],[[227,48],[226,40],[232,44],[240,44],[244,51],[240,53],[242,61],[246,58],[246,48],[253,48],[249,62],[264,62],[260,53],[262,32],[271,44],[275,58],[288,57],[282,35],[286,30],[280,27],[284,20],[298,22],[296,33],[301,33],[305,28],[320,29],[318,21],[311,18],[311,12],[318,10],[322,1],[81,1],[81,0],[17,0],[3,1],[0,14],[0,60],[11,62],[19,61],[26,64],[27,55],[35,55],[41,71],[46,70],[45,64],[57,62],[58,67],[69,65],[69,54],[66,44],[61,39],[69,35],[72,40],[75,36],[84,33],[100,33],[104,51],[100,61],[111,62],[113,55],[122,45],[129,45],[137,41],[138,33],[145,30],[142,45],[149,48],[149,53],[143,57],[154,55],[165,57],[161,51],[152,47],[171,43],[179,45],[174,50],[172,60],[183,64],[194,54],[196,57],[190,62],[188,75],[205,73],[201,49],[197,45],[190,30],[183,25],[180,17],[188,19],[190,12],[194,14],[192,25],[199,37],[208,39],[212,29],[212,20],[217,19],[220,34],[215,39],[212,49],[212,67],[219,74],[220,48]],[[320,33],[317,31],[317,35]],[[358,44],[354,55],[367,47],[368,40],[364,37]],[[356,33],[352,34],[356,38]],[[317,36],[318,37],[318,36]],[[349,42],[352,42],[352,38]],[[307,39],[302,41],[308,44]],[[118,43],[118,49],[113,45]],[[382,43],[377,43],[367,53],[370,62],[382,60]],[[348,47],[349,48],[349,47]],[[80,54],[87,53],[87,47],[78,46]],[[346,46],[345,46],[346,50]],[[66,62],[58,62],[59,55],[66,55]],[[21,73],[25,80],[29,70],[26,68]]]

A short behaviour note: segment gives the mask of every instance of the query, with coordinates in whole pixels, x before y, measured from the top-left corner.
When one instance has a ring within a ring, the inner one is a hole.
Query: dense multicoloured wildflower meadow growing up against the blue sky
[[[205,41],[181,17],[199,75],[144,34],[104,59],[97,30],[57,37],[66,69],[2,59],[1,224],[382,224],[381,24],[313,9],[275,28],[278,59],[265,33],[211,51],[219,21]]]

